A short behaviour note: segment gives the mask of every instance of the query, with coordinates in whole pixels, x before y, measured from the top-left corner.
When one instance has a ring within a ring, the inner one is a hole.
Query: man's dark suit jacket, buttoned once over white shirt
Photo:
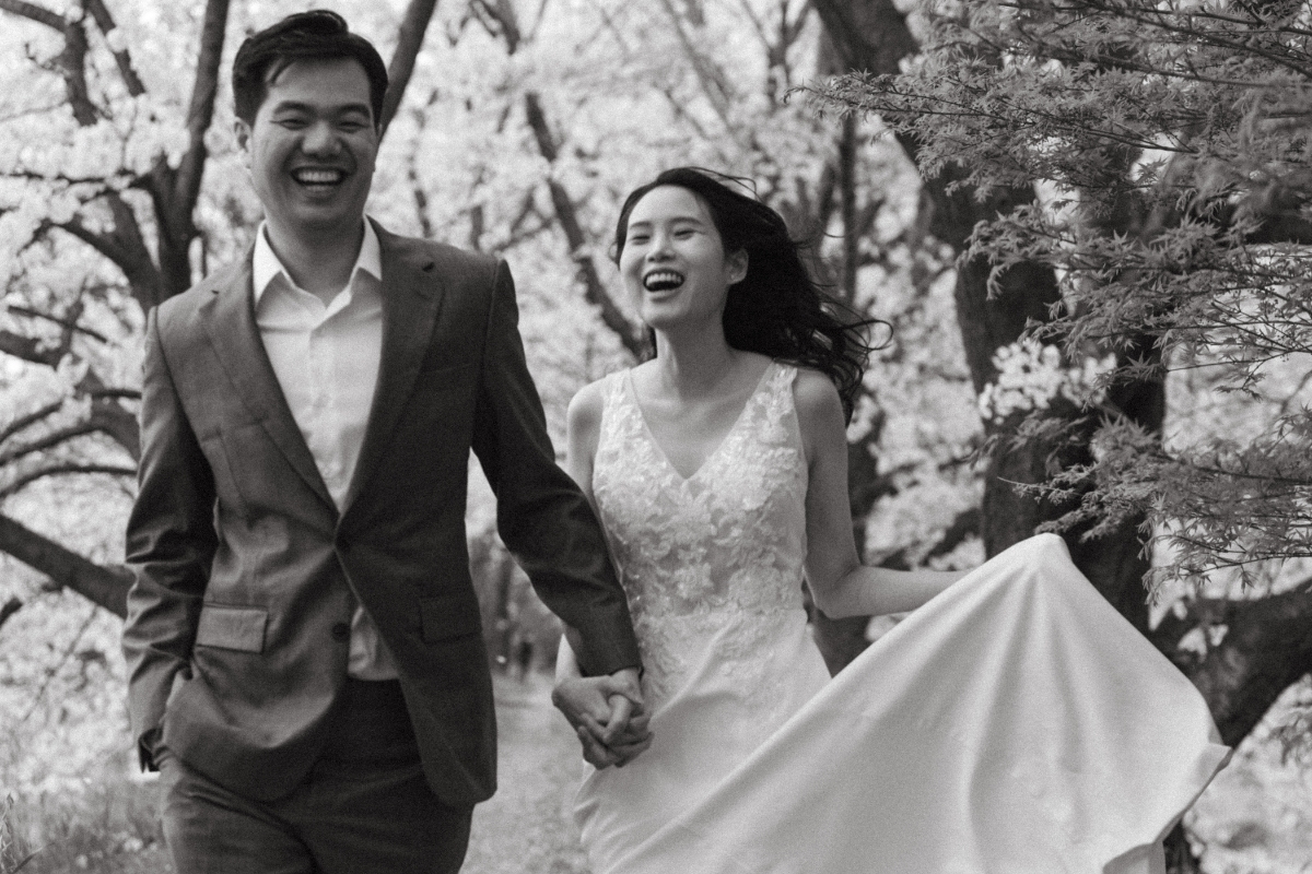
[[[251,257],[151,312],[123,647],[134,735],[256,799],[308,772],[346,677],[354,600],[395,658],[428,781],[496,789],[496,723],[464,497],[592,674],[639,663],[597,522],[556,466],[504,262],[379,228],[383,350],[338,514],[255,324]]]

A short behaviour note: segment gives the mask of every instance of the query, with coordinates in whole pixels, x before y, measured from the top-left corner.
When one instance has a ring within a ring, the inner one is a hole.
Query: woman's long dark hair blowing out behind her
[[[743,183],[735,177],[678,166],[635,189],[615,224],[615,262],[625,249],[628,216],[648,191],[676,185],[699,197],[710,210],[724,253],[747,252],[747,276],[729,286],[724,303],[724,338],[729,346],[820,371],[838,389],[850,419],[866,359],[875,349],[866,342],[865,329],[879,320],[862,318],[825,294],[807,270],[806,244],[789,235],[783,218],[719,180]]]

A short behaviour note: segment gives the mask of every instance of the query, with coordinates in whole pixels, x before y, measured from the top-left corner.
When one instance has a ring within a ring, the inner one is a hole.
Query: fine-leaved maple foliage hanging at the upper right
[[[1158,434],[1098,409],[1096,460],[1064,470],[1064,522],[1097,536],[1145,512],[1174,548],[1155,578],[1312,556],[1308,396],[1312,29],[1303,4],[972,4],[932,17],[911,69],[830,98],[878,111],[921,169],[1040,202],[977,227],[996,274],[1043,263],[1061,301],[1031,335],[1115,354],[1105,385],[1204,370],[1210,390],[1283,411],[1242,439]],[[1039,410],[1042,411],[1042,410]],[[1022,436],[1071,421],[1031,417]],[[1094,487],[1085,489],[1092,484]]]

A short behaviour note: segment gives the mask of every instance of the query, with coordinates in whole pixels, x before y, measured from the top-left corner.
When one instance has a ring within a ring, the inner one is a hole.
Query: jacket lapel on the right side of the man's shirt
[[[433,258],[422,250],[412,250],[404,240],[377,224],[374,229],[378,232],[383,261],[383,351],[369,426],[342,502],[342,514],[378,466],[387,439],[415,389],[443,296]]]

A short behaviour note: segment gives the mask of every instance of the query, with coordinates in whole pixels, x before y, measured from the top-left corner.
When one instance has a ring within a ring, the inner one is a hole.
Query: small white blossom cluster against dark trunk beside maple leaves
[[[1029,338],[1002,346],[993,352],[997,381],[985,385],[979,396],[980,418],[1001,422],[1013,413],[1046,410],[1056,397],[1080,406],[1098,404],[1105,393],[1098,377],[1115,362],[1115,355],[1089,356],[1081,366],[1063,367],[1056,346]]]

